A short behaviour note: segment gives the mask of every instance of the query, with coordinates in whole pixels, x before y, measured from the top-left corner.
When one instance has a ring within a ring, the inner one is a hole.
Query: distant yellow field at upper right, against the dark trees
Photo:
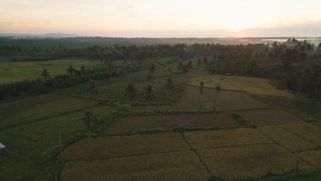
[[[285,90],[276,89],[274,86],[269,84],[269,80],[267,79],[257,77],[226,76],[224,77],[224,80],[241,88],[241,90],[245,90],[246,92],[252,94],[294,97],[292,93],[288,93]]]

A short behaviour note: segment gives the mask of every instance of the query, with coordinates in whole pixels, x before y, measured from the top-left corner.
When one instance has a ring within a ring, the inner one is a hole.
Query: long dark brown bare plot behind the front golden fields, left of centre
[[[175,114],[120,117],[108,128],[108,133],[169,130],[173,128],[226,128],[241,126],[230,113]]]

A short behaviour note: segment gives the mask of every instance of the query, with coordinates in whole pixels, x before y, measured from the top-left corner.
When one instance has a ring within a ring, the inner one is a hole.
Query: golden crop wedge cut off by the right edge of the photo
[[[321,147],[321,128],[311,125],[309,123],[291,124],[291,125],[280,125],[285,130],[292,132],[307,141]]]

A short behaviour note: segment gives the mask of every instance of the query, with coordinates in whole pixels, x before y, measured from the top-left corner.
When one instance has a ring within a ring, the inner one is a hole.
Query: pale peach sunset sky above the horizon
[[[0,0],[0,33],[321,36],[321,0]]]

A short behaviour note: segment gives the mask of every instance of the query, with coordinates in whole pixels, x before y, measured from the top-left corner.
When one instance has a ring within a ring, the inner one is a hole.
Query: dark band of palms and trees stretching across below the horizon
[[[19,47],[10,47],[10,49],[18,51]],[[318,66],[311,65],[308,69],[305,68],[305,64],[311,64],[311,62],[317,64],[317,62],[321,61],[321,43],[316,46],[307,43],[307,41],[300,42],[295,39],[288,40],[287,43],[275,42],[267,45],[195,43],[193,45],[147,45],[143,47],[135,45],[127,47],[119,45],[110,47],[94,46],[83,47],[82,49],[68,49],[60,45],[57,49],[52,48],[45,51],[40,51],[34,47],[29,53],[32,56],[49,56],[51,58],[72,58],[75,56],[89,58],[92,61],[105,62],[107,67],[94,71],[69,70],[69,76],[56,76],[48,81],[32,80],[4,84],[0,86],[0,99],[16,97],[23,93],[45,92],[50,88],[65,88],[80,82],[86,82],[89,77],[95,80],[105,77],[110,77],[111,79],[112,76],[121,75],[127,69],[115,69],[114,62],[116,60],[123,60],[125,63],[126,61],[135,62],[136,71],[139,71],[144,69],[143,64],[152,63],[146,62],[148,58],[162,57],[178,57],[178,69],[182,70],[182,73],[187,73],[194,66],[206,68],[216,74],[234,73],[280,78],[285,82],[283,88],[297,90],[298,92],[311,92],[313,85],[315,87],[320,84],[320,82],[316,83],[316,75],[320,73],[320,69],[315,67]],[[192,65],[191,62],[185,63],[186,60],[191,60],[191,58],[199,58],[197,65]],[[73,69],[73,67],[69,67],[69,69]],[[302,72],[307,73],[303,76]],[[311,82],[311,76],[313,77],[313,83]]]

